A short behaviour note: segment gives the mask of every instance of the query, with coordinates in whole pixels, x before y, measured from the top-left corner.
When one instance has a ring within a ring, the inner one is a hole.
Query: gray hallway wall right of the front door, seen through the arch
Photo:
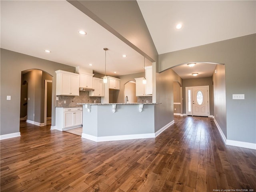
[[[225,66],[216,65],[212,76],[214,90],[214,118],[227,138]]]

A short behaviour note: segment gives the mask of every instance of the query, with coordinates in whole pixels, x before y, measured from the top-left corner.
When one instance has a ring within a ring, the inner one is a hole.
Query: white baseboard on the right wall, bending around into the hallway
[[[230,145],[230,146],[236,146],[236,147],[243,147],[243,148],[248,148],[248,149],[254,149],[256,150],[256,143],[249,143],[249,142],[242,142],[242,141],[234,141],[234,140],[229,140],[226,138],[226,136],[224,135],[224,133],[222,132],[219,124],[217,123],[217,121],[214,119],[214,122],[220,132],[220,135],[222,137],[222,140],[224,141],[224,143],[226,145]]]

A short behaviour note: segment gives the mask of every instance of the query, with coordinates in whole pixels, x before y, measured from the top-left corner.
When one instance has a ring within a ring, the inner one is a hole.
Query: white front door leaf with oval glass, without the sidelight
[[[208,116],[208,87],[192,88],[193,116]]]

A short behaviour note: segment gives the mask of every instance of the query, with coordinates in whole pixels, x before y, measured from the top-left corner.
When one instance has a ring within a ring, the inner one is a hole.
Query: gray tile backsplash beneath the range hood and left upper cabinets
[[[76,106],[78,103],[94,103],[94,101],[101,102],[101,97],[90,97],[87,91],[80,91],[79,96],[57,95],[57,97],[59,100],[56,100],[56,107]]]

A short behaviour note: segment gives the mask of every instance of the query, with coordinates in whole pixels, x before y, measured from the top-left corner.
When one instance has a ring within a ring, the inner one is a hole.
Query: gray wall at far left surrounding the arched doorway
[[[55,126],[56,70],[74,72],[72,66],[1,49],[0,66],[0,135],[20,131],[20,86],[21,72],[28,69],[40,69],[53,76],[52,126]],[[10,95],[12,100],[6,100]]]

